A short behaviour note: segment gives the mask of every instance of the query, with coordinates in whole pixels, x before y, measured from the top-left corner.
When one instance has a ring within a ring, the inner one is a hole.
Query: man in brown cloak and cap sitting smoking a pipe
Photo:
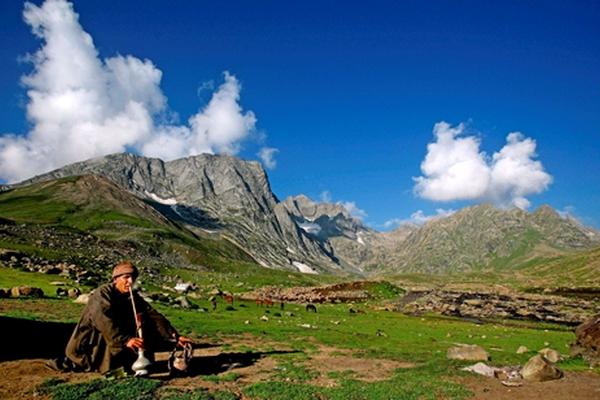
[[[137,277],[138,270],[131,262],[117,264],[112,281],[90,295],[65,349],[66,357],[47,365],[62,371],[104,373],[119,367],[130,371],[139,349],[151,357],[153,351],[165,348],[169,341],[180,347],[191,344],[136,292],[132,292],[138,312],[134,315],[130,288]],[[137,336],[136,318],[141,321],[143,339]]]

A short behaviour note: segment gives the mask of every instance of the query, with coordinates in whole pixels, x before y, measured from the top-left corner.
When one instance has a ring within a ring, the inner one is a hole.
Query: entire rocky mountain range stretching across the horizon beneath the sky
[[[544,260],[600,245],[597,231],[549,206],[528,213],[484,204],[422,226],[377,232],[341,204],[318,203],[303,195],[279,202],[258,162],[231,156],[202,154],[164,162],[114,154],[68,165],[16,187],[89,174],[112,182],[111,190],[97,182],[95,194],[117,209],[135,203],[141,212],[144,206],[143,218],[153,223],[226,240],[270,268],[335,274],[542,268]],[[95,185],[89,179],[84,183]],[[76,202],[77,190],[71,190],[70,201]]]

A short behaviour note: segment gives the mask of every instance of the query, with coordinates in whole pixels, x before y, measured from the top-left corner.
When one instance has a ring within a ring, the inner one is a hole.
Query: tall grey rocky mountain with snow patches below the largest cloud
[[[108,178],[191,230],[230,240],[263,266],[344,272],[328,243],[308,235],[279,203],[258,162],[209,154],[170,162],[113,154],[18,186],[87,174]]]

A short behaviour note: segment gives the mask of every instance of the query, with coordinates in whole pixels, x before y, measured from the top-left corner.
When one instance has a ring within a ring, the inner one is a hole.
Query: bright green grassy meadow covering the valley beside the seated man
[[[40,285],[45,284],[42,274],[6,272],[3,268],[0,274],[2,285],[33,277],[41,279]],[[185,271],[177,272],[184,275]],[[234,287],[234,275],[208,273],[207,288],[211,280],[227,277]],[[278,303],[265,308],[244,301],[229,307],[220,302],[215,311],[206,311],[211,310],[206,296],[191,299],[199,306],[196,310],[155,304],[182,334],[200,344],[221,345],[223,353],[239,357],[270,358],[273,364],[266,374],[261,372],[259,381],[247,382],[244,374],[219,370],[188,378],[184,388],[163,380],[97,378],[79,383],[48,380],[37,390],[55,400],[462,399],[468,398],[469,391],[459,383],[459,377],[467,374],[460,368],[473,363],[447,360],[449,347],[457,343],[481,345],[491,355],[489,364],[507,366],[523,365],[544,347],[568,354],[568,345],[574,340],[572,329],[559,325],[516,321],[475,324],[437,315],[414,317],[385,311],[381,305],[394,296],[385,288],[377,284],[372,287],[378,293],[375,300],[317,305],[316,313],[307,312],[303,304],[285,304],[281,309]],[[76,322],[82,307],[58,298],[2,299],[0,315]],[[530,351],[516,354],[519,346]],[[383,362],[397,362],[402,367],[392,368],[384,379],[364,380],[351,366],[328,369],[312,362],[324,349],[330,351],[325,363],[332,365],[337,357],[346,357],[342,361],[351,357],[374,369]],[[202,359],[196,362],[202,363]],[[588,369],[581,359],[569,358],[560,367],[566,371]],[[323,380],[328,383],[320,384]]]

